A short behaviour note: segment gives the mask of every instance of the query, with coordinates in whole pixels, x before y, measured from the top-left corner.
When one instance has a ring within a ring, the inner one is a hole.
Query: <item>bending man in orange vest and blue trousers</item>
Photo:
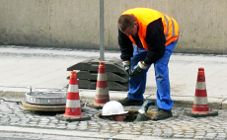
[[[151,119],[171,117],[173,100],[170,97],[168,63],[179,37],[176,20],[150,8],[134,8],[119,17],[118,29],[120,57],[129,75],[128,95],[119,102],[125,106],[143,104],[147,71],[153,64],[158,113]]]

